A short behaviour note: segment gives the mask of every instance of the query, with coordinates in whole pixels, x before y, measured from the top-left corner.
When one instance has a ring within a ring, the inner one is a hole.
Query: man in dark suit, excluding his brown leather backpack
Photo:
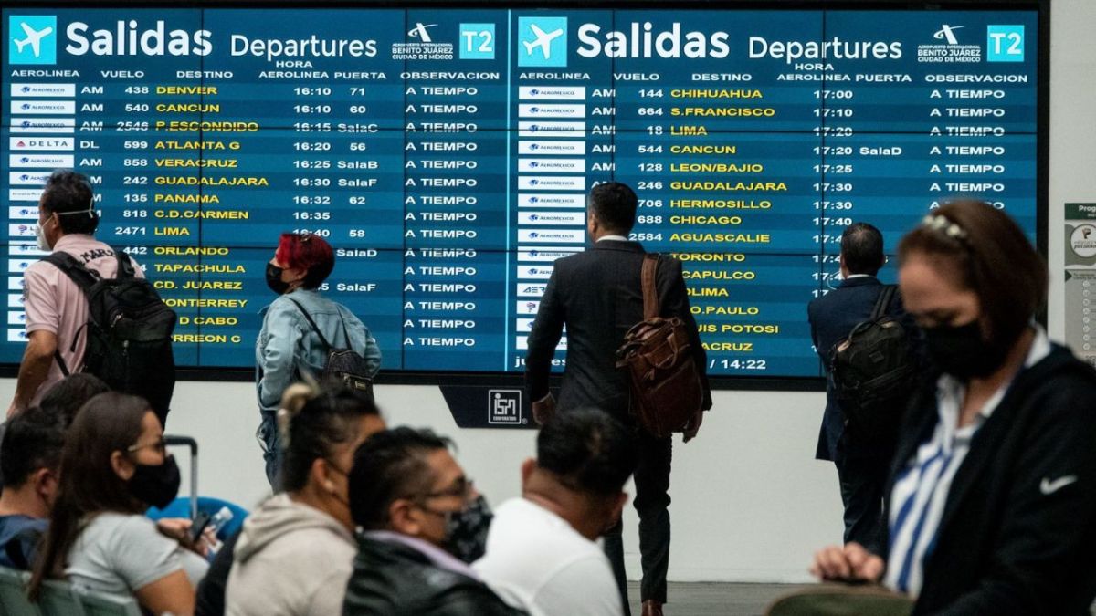
[[[545,423],[556,403],[548,391],[552,354],[567,326],[567,367],[560,387],[561,412],[581,407],[603,409],[632,427],[639,452],[636,469],[636,511],[639,513],[639,550],[643,567],[640,598],[643,616],[661,616],[666,602],[666,568],[670,563],[670,457],[671,438],[655,438],[636,425],[628,412],[628,381],[616,367],[616,350],[625,333],[643,320],[640,270],[643,247],[628,241],[636,223],[636,193],[625,184],[608,182],[590,192],[586,228],[592,249],[556,261],[555,270],[529,333],[525,358],[525,385],[534,400],[533,413]],[[655,276],[660,315],[678,317],[692,332],[697,366],[707,365],[696,322],[689,311],[682,264],[663,256]],[[705,409],[711,392],[705,379]],[[700,427],[703,412],[685,431],[687,443]],[[623,525],[618,522],[605,536],[605,552],[624,598],[628,592],[624,570]]]

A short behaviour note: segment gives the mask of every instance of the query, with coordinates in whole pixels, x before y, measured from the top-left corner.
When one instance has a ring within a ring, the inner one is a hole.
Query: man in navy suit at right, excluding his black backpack
[[[883,238],[879,229],[866,223],[849,225],[841,236],[841,286],[819,297],[807,307],[811,338],[826,376],[830,376],[830,350],[853,328],[871,317],[883,284],[876,274],[886,263]],[[903,315],[899,296],[891,301],[889,313]],[[837,467],[841,500],[845,505],[845,543],[857,541],[869,549],[879,546],[882,518],[883,488],[893,438],[866,438],[855,427],[846,430],[833,383],[827,383],[825,414],[819,433],[815,457],[832,460]]]

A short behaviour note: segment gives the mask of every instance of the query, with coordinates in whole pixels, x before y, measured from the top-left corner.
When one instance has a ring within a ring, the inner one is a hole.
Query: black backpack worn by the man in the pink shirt
[[[175,311],[160,299],[152,283],[139,278],[133,261],[125,252],[116,252],[118,274],[103,278],[71,254],[57,251],[43,261],[57,266],[72,278],[88,298],[88,345],[83,372],[93,374],[115,391],[133,393],[148,400],[163,424],[175,389],[175,360],[171,351],[171,334],[175,329]],[[79,331],[72,340],[80,339]],[[60,351],[55,353],[65,376]]]

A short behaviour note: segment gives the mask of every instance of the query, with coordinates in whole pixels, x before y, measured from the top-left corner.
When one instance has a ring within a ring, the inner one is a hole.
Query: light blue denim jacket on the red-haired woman
[[[318,375],[328,358],[328,349],[290,298],[308,310],[328,342],[335,347],[353,349],[365,357],[370,376],[380,367],[377,341],[353,312],[319,292],[298,288],[260,311],[263,327],[255,340],[255,387],[259,408],[266,412],[277,411],[282,392],[299,378],[301,366]]]

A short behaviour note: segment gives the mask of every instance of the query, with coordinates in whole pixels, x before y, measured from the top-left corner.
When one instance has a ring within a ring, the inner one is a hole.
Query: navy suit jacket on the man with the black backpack
[[[815,298],[807,306],[807,317],[811,322],[811,340],[822,365],[825,366],[826,378],[830,376],[830,350],[848,335],[858,323],[871,317],[883,285],[875,276],[865,276],[843,281],[841,286],[822,297]],[[901,317],[901,297],[891,301],[891,316]],[[822,460],[838,461],[845,456],[888,456],[893,450],[893,443],[861,443],[855,440],[842,442],[845,432],[845,421],[837,404],[837,398],[832,384],[827,383],[825,392],[825,413],[822,415],[822,429],[819,431],[818,448],[814,457]]]

